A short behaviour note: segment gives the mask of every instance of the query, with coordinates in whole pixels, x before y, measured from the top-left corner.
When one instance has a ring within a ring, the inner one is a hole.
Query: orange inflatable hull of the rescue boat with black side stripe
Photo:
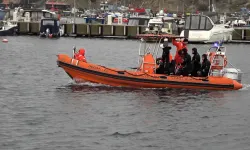
[[[124,71],[81,62],[58,55],[58,66],[78,82],[94,82],[110,86],[134,88],[187,88],[207,90],[238,90],[242,85],[225,77],[182,77]]]

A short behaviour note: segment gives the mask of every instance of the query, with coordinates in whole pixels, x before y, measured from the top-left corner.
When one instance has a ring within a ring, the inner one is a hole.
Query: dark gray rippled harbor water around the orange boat
[[[227,45],[245,88],[223,92],[76,85],[56,65],[56,54],[76,45],[93,63],[135,67],[137,41],[8,40],[0,43],[1,150],[250,149],[250,45]]]

